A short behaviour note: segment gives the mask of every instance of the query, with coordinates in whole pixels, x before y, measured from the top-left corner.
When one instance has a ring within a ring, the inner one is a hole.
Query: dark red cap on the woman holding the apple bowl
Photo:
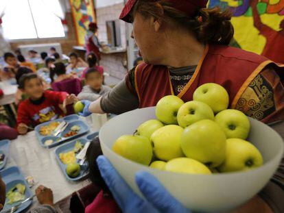
[[[123,21],[130,23],[130,12],[137,3],[138,0],[128,0],[124,6],[119,18]],[[148,0],[148,1],[158,1],[158,0]],[[206,8],[207,2],[209,0],[169,0],[173,4],[173,7],[181,12],[185,12],[188,16],[193,16],[196,10],[199,8]]]

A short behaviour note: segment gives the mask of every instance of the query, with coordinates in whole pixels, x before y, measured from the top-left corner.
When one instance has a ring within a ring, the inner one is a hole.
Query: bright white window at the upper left
[[[8,0],[3,34],[10,40],[64,37],[58,16],[62,16],[58,0]]]

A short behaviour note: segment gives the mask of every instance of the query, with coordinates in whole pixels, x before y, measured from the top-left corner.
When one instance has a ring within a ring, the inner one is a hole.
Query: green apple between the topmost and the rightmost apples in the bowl
[[[215,116],[215,122],[225,132],[227,138],[248,138],[250,120],[239,110],[223,110]]]

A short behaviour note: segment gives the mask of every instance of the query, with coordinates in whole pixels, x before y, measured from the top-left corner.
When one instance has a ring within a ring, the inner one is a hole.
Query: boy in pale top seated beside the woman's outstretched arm
[[[103,84],[104,73],[96,68],[89,68],[85,75],[86,86],[78,94],[79,100],[95,101],[105,93],[111,90],[110,87]]]

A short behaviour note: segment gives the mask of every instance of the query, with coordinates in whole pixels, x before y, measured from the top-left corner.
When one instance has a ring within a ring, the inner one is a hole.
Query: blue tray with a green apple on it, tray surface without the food
[[[60,147],[56,148],[56,150],[54,151],[54,153],[56,155],[56,160],[57,160],[57,162],[58,162],[58,164],[60,166],[60,169],[61,169],[62,173],[66,177],[66,179],[68,179],[69,181],[78,181],[80,179],[84,179],[88,175],[88,172],[87,172],[88,166],[87,166],[87,164],[85,162],[83,164],[83,166],[81,166],[80,175],[78,175],[78,177],[75,177],[75,178],[69,177],[67,175],[67,172],[66,172],[67,165],[63,164],[61,162],[61,160],[59,158],[59,154],[60,153],[67,153],[69,151],[72,151],[74,149],[76,141],[78,141],[78,140],[80,140],[80,142],[82,142],[82,144],[85,145],[86,142],[93,140],[93,138],[95,138],[95,136],[98,136],[98,135],[99,135],[99,132],[97,131],[97,132],[95,132],[93,134],[89,134],[88,136],[72,140],[71,142],[68,142],[68,143],[66,143],[64,145],[61,145]],[[79,160],[77,160],[77,162],[79,162]]]

